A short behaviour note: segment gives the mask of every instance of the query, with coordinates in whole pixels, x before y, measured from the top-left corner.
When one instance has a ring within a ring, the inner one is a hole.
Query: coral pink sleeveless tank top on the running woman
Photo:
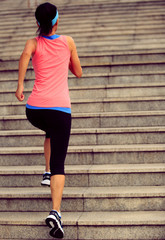
[[[70,50],[66,36],[37,37],[32,58],[35,82],[27,104],[35,107],[70,108],[68,69]]]

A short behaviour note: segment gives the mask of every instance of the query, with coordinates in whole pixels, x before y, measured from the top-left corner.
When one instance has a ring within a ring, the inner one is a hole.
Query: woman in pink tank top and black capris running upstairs
[[[50,171],[52,210],[46,218],[50,235],[63,238],[60,206],[65,183],[64,162],[71,129],[71,103],[68,89],[68,69],[78,78],[82,68],[74,40],[57,35],[59,23],[55,5],[44,3],[35,12],[38,37],[26,42],[19,60],[16,97],[24,100],[24,78],[32,56],[35,82],[26,104],[27,119],[50,138]]]

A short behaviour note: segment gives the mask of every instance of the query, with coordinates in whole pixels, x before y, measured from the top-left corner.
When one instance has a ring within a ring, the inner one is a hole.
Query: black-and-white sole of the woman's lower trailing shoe
[[[51,237],[54,237],[54,238],[64,237],[64,231],[55,216],[51,216],[51,217],[48,216],[45,222],[49,228],[52,228],[51,231],[49,232]]]

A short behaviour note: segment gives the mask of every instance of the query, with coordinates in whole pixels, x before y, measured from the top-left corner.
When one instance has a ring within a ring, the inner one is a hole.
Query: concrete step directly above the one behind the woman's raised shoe
[[[69,146],[66,164],[162,163],[164,144]],[[2,147],[0,166],[44,165],[43,147]]]

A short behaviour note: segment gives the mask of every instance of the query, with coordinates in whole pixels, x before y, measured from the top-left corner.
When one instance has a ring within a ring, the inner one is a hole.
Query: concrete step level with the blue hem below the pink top
[[[73,113],[87,112],[126,112],[126,111],[158,111],[165,110],[165,97],[131,97],[106,99],[73,99]],[[0,114],[25,114],[24,102],[0,103]]]

